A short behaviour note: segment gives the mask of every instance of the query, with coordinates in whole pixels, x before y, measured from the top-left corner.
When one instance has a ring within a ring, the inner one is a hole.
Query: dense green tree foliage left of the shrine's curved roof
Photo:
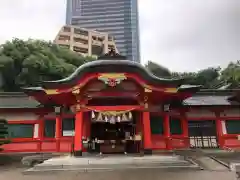
[[[62,79],[80,65],[95,60],[51,42],[13,39],[0,48],[0,72],[5,91],[37,86],[45,80]]]

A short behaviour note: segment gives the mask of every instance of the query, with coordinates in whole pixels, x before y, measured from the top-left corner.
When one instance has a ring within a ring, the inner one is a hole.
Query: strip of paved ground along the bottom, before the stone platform
[[[23,175],[23,168],[0,169],[0,180],[236,180],[232,172],[215,171],[159,171],[158,169],[124,170],[79,173],[77,171],[51,174]]]

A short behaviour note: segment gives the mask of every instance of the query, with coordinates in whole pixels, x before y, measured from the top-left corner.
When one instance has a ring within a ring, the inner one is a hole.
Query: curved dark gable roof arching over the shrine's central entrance
[[[67,78],[56,81],[45,81],[43,82],[42,86],[44,88],[54,88],[58,85],[74,86],[77,81],[81,79],[86,73],[135,73],[149,84],[155,86],[166,85],[179,87],[184,82],[184,79],[165,79],[156,77],[141,64],[133,61],[97,60],[80,66],[73,74]]]

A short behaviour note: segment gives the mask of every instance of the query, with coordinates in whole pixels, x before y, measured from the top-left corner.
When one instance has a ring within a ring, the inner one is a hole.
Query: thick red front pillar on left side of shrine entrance
[[[82,155],[83,150],[82,135],[83,135],[83,112],[79,111],[76,113],[75,119],[75,137],[74,137],[75,156]]]

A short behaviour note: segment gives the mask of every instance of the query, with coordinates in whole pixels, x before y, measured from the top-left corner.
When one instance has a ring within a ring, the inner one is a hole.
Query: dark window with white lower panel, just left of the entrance
[[[74,136],[75,117],[63,118],[62,120],[62,136]]]

